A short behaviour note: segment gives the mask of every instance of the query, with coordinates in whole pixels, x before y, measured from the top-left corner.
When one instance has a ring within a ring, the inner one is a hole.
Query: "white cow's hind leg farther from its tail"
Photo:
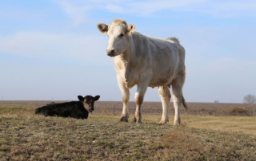
[[[166,124],[169,121],[170,90],[167,86],[161,86],[158,88],[158,94],[162,100],[162,119],[160,124]]]

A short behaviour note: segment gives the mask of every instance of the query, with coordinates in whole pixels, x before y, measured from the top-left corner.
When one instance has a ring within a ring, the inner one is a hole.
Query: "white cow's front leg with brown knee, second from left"
[[[146,92],[147,83],[138,84],[137,92],[135,93],[136,111],[134,116],[134,123],[142,123],[142,102]]]

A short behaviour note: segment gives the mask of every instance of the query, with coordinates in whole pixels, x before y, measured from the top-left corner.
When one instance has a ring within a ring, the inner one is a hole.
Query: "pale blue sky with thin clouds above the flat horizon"
[[[0,2],[0,100],[122,100],[108,39],[114,18],[186,49],[188,102],[242,103],[256,95],[256,2],[10,0]],[[130,90],[134,100],[136,87]],[[160,101],[148,88],[145,101]]]

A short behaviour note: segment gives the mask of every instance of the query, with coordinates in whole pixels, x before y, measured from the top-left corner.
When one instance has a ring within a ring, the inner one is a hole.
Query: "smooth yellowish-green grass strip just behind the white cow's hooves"
[[[90,116],[95,120],[115,120],[118,121],[120,116]],[[134,116],[130,116],[130,121]],[[225,131],[225,132],[239,132],[256,137],[256,117],[249,116],[181,116],[182,123],[190,128],[204,128],[209,130]],[[142,116],[143,123],[160,122],[161,116]],[[170,122],[173,124],[174,116],[169,116]]]

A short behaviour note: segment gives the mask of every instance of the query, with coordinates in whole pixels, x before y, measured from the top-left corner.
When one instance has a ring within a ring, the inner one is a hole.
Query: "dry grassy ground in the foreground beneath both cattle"
[[[182,116],[173,127],[173,116],[134,124],[35,116],[34,108],[0,104],[0,160],[256,160],[256,117]]]

